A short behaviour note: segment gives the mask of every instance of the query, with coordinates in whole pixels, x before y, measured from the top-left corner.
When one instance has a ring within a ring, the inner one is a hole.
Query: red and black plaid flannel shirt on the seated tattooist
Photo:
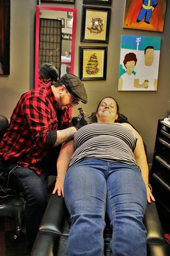
[[[49,131],[67,128],[69,121],[69,111],[57,109],[50,85],[23,94],[1,141],[0,156],[40,174],[41,168],[37,166],[48,154],[46,141]]]

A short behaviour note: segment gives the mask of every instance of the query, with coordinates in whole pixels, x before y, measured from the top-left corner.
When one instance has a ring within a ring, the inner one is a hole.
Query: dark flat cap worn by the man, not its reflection
[[[81,102],[87,103],[87,93],[83,83],[73,74],[65,74],[60,78],[61,82],[67,87],[68,91],[75,95]]]

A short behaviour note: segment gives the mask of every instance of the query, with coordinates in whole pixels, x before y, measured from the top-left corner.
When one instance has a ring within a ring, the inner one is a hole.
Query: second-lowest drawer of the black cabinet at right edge
[[[170,186],[170,164],[162,157],[156,155],[152,165],[152,173],[156,173],[163,181]]]

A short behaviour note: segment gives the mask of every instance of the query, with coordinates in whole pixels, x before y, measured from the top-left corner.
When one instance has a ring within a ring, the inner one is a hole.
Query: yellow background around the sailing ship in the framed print
[[[89,75],[86,73],[86,67],[92,54],[96,53],[98,60],[98,74]],[[104,50],[84,50],[83,51],[83,77],[103,77]]]

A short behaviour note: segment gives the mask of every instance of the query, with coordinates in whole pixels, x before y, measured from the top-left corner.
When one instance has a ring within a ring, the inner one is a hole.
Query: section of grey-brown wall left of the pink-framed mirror
[[[10,75],[0,77],[0,113],[6,117],[33,87],[35,0],[11,1]]]

